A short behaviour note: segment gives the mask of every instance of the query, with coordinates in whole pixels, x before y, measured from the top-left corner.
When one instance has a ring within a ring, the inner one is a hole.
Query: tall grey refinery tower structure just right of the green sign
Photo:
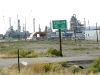
[[[70,30],[73,30],[72,40],[84,40],[85,39],[85,19],[82,24],[80,20],[76,18],[76,14],[73,14],[70,19]]]

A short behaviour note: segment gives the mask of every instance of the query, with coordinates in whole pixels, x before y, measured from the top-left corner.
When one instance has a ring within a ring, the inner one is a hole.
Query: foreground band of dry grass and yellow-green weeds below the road
[[[98,59],[99,60],[99,59]],[[97,61],[97,59],[96,59]],[[95,61],[94,61],[95,62]],[[65,67],[66,62],[56,63],[31,63],[24,66],[20,63],[20,75],[99,75],[99,69],[97,67],[91,68],[91,71],[87,73],[85,69],[81,69],[76,66]],[[62,64],[64,64],[62,66]],[[94,63],[93,63],[94,64]],[[95,63],[96,64],[96,63]],[[99,64],[98,64],[99,65]],[[18,75],[18,65],[13,64],[9,67],[5,67],[0,71],[3,75]]]

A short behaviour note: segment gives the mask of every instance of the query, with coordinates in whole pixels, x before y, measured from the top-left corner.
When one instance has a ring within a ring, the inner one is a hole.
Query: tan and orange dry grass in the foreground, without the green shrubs
[[[42,69],[43,64],[42,63],[32,63],[28,64],[27,66],[24,66],[23,64],[20,64],[20,73],[18,71],[18,65],[13,64],[9,67],[5,67],[1,70],[1,73],[3,75],[100,75],[100,73],[89,73],[86,72],[78,72],[78,73],[72,73],[67,68],[62,69],[62,67],[59,64],[53,64],[53,66],[56,66],[56,70],[50,70],[48,72],[45,72]],[[57,67],[58,66],[58,67]]]

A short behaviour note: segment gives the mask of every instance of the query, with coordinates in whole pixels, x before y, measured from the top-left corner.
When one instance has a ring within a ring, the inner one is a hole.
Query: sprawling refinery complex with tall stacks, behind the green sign
[[[23,31],[21,31],[23,28]],[[17,15],[17,28],[13,29],[11,25],[11,17],[9,18],[9,28],[7,29],[3,39],[11,40],[11,39],[27,39],[27,40],[37,40],[37,39],[58,39],[59,32],[58,30],[53,31],[52,29],[52,21],[50,20],[49,26],[45,26],[45,30],[41,31],[41,27],[39,24],[38,32],[35,32],[35,18],[33,19],[33,33],[26,31],[26,24],[21,27],[20,19],[18,19]],[[76,14],[73,14],[70,19],[70,28],[61,29],[61,38],[66,39],[70,38],[71,40],[85,40],[85,31],[86,31],[86,21],[84,19],[84,23],[82,24],[80,20],[76,18]]]

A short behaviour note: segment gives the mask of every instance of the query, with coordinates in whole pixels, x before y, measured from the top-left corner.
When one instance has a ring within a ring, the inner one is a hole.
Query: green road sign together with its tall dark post
[[[53,20],[53,29],[59,29],[59,42],[60,42],[60,56],[62,57],[62,45],[61,45],[61,29],[67,28],[66,20]]]

